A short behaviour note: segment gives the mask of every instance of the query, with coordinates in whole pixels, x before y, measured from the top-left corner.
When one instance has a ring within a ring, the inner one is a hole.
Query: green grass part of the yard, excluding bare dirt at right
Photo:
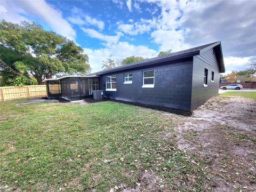
[[[17,107],[20,102],[0,103],[0,187],[109,191],[138,185],[147,170],[173,190],[185,190],[177,182],[193,175],[190,187],[202,190],[200,165],[177,149],[174,134],[164,139],[174,124],[159,111],[111,101]]]

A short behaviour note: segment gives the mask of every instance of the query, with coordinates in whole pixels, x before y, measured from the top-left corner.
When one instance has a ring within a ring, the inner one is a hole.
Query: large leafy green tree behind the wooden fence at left
[[[53,75],[86,74],[91,68],[83,49],[36,23],[0,22],[1,76],[6,84],[17,76],[42,84]],[[10,80],[11,79],[11,80]]]

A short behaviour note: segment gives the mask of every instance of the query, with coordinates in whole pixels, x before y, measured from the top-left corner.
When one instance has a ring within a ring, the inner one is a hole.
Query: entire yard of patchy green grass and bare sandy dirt
[[[112,101],[21,102],[0,103],[0,190],[256,190],[253,99],[215,97],[189,117]]]

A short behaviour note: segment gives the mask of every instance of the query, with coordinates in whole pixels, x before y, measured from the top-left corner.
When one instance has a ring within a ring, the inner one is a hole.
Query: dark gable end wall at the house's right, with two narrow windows
[[[204,69],[208,69],[208,86],[204,87]],[[214,72],[214,82],[211,73]],[[214,49],[194,56],[191,111],[204,104],[211,97],[218,95],[220,71]]]

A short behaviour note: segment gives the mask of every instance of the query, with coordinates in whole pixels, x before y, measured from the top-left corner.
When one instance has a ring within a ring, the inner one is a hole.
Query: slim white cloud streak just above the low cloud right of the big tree
[[[121,32],[117,32],[117,34],[115,36],[111,36],[111,35],[101,34],[101,33],[99,33],[99,31],[94,30],[94,29],[89,29],[89,28],[84,28],[84,27],[81,27],[81,29],[84,31],[84,33],[86,33],[90,37],[98,38],[101,41],[107,42],[108,44],[116,44],[119,41],[119,38],[122,36]]]

